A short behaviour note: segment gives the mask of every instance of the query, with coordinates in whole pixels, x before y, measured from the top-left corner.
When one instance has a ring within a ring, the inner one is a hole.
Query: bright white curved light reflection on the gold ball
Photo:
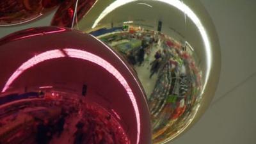
[[[102,13],[100,13],[99,17],[95,20],[95,22],[93,23],[92,28],[95,28],[97,26],[97,24],[99,24],[100,20],[102,20],[104,17],[106,17],[106,15],[108,15],[108,13],[111,13],[113,10],[115,10],[116,8],[119,8],[120,6],[124,6],[127,3],[131,3],[134,1],[138,1],[138,0],[116,0],[115,2],[111,3]],[[169,4],[171,6],[174,6],[175,8],[179,9],[181,12],[184,12],[189,19],[191,19],[193,21],[193,23],[196,25],[196,27],[198,28],[198,31],[200,32],[200,35],[202,36],[202,39],[204,40],[204,45],[205,45],[205,52],[206,52],[206,72],[205,72],[205,84],[209,79],[209,72],[210,72],[210,68],[211,68],[211,63],[212,63],[212,57],[211,57],[211,46],[210,46],[210,42],[209,42],[209,37],[205,31],[205,28],[202,24],[202,22],[200,21],[200,19],[197,17],[197,15],[184,3],[182,3],[182,1],[179,0],[148,0],[148,1],[159,1],[162,3],[166,3]],[[205,84],[202,88],[202,93],[204,93],[205,90]]]

